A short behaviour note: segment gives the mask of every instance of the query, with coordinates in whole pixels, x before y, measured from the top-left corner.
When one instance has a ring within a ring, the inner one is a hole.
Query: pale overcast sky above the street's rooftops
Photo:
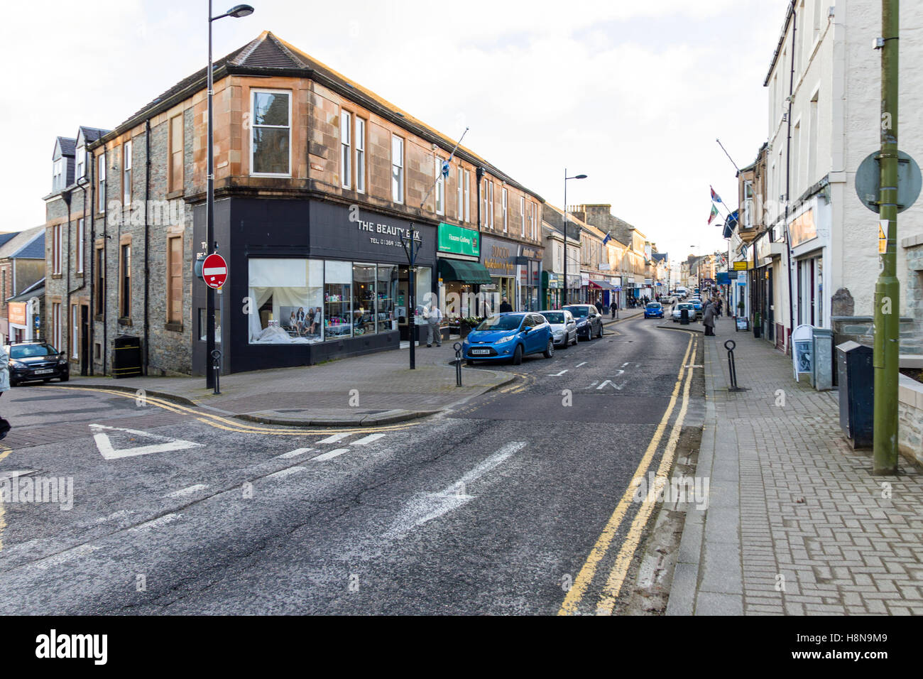
[[[215,2],[219,14],[232,0]],[[709,184],[766,139],[762,80],[786,0],[250,0],[214,24],[216,58],[271,30],[545,200],[611,203],[671,259],[726,249]],[[0,231],[44,222],[54,138],[111,129],[203,67],[206,0],[10,3],[0,25]],[[41,8],[40,8],[41,7]],[[21,61],[17,61],[21,59]],[[28,105],[27,105],[28,104]],[[736,207],[736,206],[734,206]]]

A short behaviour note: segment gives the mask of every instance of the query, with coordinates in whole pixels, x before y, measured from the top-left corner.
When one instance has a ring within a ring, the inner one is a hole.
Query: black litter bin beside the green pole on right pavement
[[[875,406],[871,347],[852,341],[838,345],[836,368],[840,390],[840,427],[853,448],[870,448]]]

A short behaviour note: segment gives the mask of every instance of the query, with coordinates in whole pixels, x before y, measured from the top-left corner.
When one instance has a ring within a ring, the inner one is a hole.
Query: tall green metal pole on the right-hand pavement
[[[900,282],[897,280],[897,56],[899,0],[881,0],[881,197],[879,217],[887,236],[875,285],[875,424],[872,472],[897,472],[897,380],[900,356]],[[886,224],[885,224],[886,223]]]

